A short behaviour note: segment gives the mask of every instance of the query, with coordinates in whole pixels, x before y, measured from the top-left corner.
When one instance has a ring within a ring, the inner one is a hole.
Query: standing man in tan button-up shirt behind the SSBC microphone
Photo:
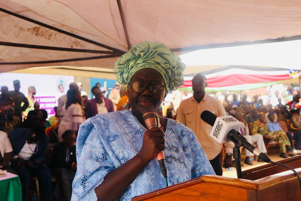
[[[222,103],[205,93],[207,86],[206,77],[197,74],[192,78],[193,96],[183,100],[178,108],[178,120],[188,126],[197,136],[202,145],[216,175],[222,176],[222,166],[220,163],[220,152],[222,144],[209,136],[212,126],[201,120],[200,115],[204,110],[209,110],[216,116],[226,116],[226,111]],[[223,167],[229,168],[232,165],[232,155],[234,143],[225,143],[226,157]]]

